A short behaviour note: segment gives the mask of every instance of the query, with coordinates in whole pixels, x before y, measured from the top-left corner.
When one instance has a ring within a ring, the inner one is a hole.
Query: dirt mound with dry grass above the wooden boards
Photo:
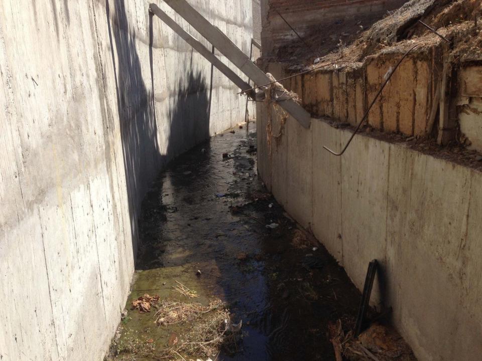
[[[336,47],[320,48],[320,63],[345,60],[362,63],[369,56],[381,53],[403,52],[410,46],[418,45],[417,52],[424,52],[434,46],[447,46],[453,58],[459,62],[482,60],[482,2],[480,0],[411,0],[395,12],[373,24],[370,29],[356,36],[351,33],[347,39],[338,39]],[[423,26],[425,23],[450,41],[445,41]],[[363,26],[362,26],[363,28]],[[355,29],[352,29],[355,31]],[[308,39],[317,43],[320,39],[330,38],[330,30],[323,34],[312,34]],[[345,40],[351,39],[351,42]],[[299,57],[290,63],[290,68],[299,70],[313,64],[315,56],[306,57],[306,50],[298,45]],[[326,51],[328,50],[328,51]],[[291,50],[293,52],[293,49]]]

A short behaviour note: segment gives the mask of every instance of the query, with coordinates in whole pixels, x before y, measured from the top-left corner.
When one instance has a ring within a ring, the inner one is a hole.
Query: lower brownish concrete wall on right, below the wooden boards
[[[482,352],[482,173],[312,119],[310,129],[258,105],[259,172],[268,189],[355,285],[372,259],[375,303],[420,361]]]

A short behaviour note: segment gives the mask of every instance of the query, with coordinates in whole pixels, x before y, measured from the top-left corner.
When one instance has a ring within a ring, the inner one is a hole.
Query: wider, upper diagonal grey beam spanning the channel
[[[199,14],[186,0],[164,0],[164,2],[256,84],[266,84],[271,81],[242,50],[233,44],[224,33]],[[151,7],[154,6],[153,4]],[[303,127],[310,127],[310,113],[293,99],[283,100],[278,102],[278,104],[291,114]]]

